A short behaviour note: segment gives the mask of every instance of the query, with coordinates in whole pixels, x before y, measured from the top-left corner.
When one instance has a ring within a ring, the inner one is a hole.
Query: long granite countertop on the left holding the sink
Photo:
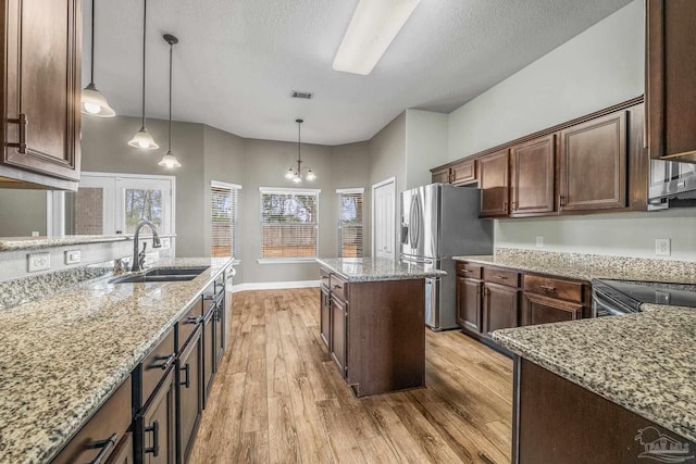
[[[51,459],[231,264],[163,260],[210,268],[177,283],[100,278],[0,311],[0,462]]]

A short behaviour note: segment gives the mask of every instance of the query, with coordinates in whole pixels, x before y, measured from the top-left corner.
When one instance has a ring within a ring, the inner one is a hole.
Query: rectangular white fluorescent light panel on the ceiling
[[[333,68],[366,76],[421,0],[360,0]]]

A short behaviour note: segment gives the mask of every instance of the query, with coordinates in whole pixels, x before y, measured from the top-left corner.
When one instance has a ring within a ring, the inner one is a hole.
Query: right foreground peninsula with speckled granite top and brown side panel
[[[518,355],[513,462],[694,462],[696,309],[641,309],[493,334]]]

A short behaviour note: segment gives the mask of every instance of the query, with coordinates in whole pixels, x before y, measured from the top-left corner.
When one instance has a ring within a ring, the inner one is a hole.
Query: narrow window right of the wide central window
[[[338,193],[338,258],[362,258],[362,196],[364,189]]]

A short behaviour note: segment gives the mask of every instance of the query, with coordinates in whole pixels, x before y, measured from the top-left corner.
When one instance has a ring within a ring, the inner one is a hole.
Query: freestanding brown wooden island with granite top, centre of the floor
[[[320,259],[321,335],[356,397],[425,385],[425,264]]]

